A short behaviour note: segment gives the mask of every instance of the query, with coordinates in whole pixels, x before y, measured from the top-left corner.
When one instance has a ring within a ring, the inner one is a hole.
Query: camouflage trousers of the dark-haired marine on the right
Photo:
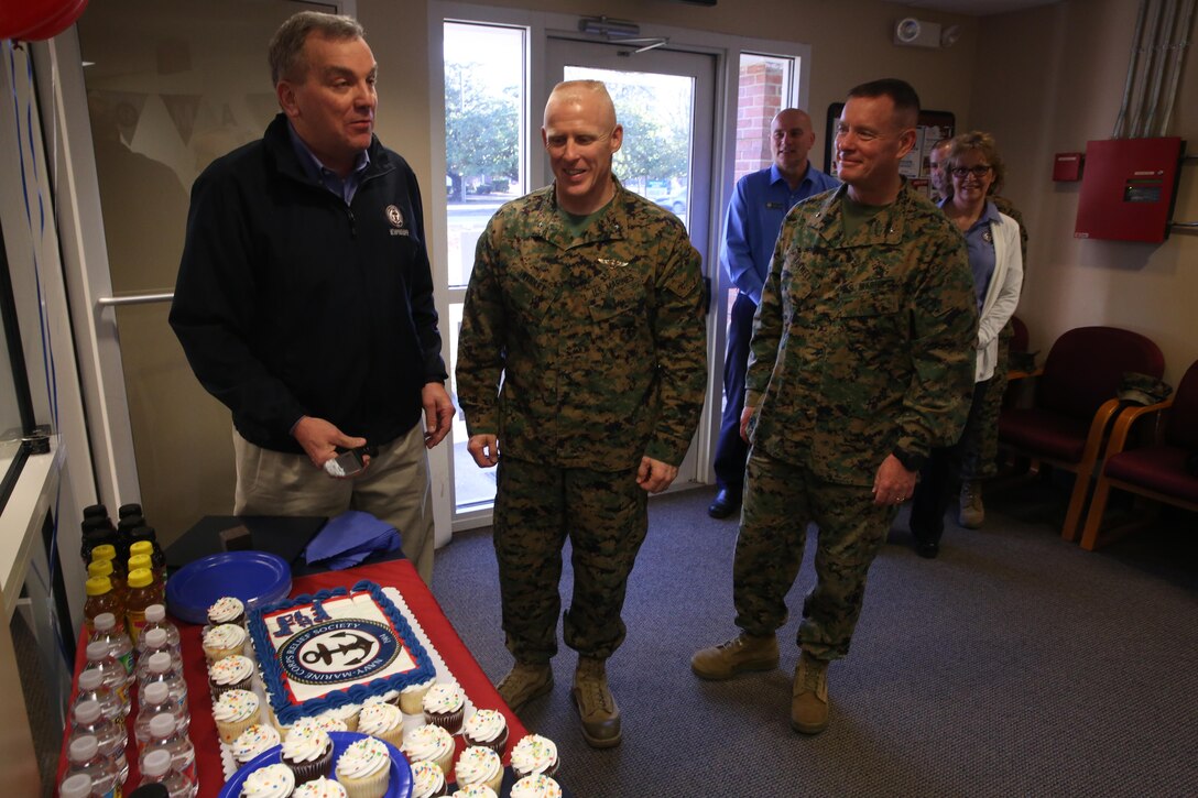
[[[870,488],[823,482],[752,448],[732,567],[737,625],[772,635],[786,623],[786,593],[803,563],[807,524],[815,522],[816,585],[803,607],[798,643],[818,659],[848,654],[866,574],[897,509],[875,504]]]

